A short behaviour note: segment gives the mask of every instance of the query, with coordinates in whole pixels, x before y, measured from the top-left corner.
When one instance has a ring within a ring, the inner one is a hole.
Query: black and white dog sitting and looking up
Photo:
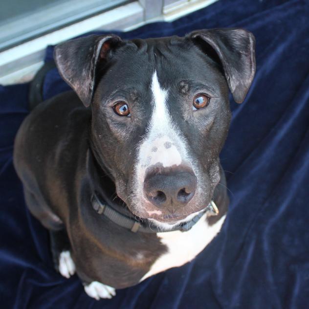
[[[240,28],[55,47],[74,90],[40,103],[14,148],[26,205],[50,231],[56,269],[110,298],[193,260],[218,234],[228,195],[219,153],[255,74]]]

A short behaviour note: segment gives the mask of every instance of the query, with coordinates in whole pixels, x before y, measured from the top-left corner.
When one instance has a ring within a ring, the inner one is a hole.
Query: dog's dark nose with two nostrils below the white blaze
[[[186,205],[194,196],[197,177],[192,172],[164,170],[150,173],[144,181],[144,193],[149,201],[159,208],[167,208],[174,213]]]

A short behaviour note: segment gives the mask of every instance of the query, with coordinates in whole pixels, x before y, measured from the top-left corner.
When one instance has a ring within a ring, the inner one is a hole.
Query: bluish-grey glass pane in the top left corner
[[[60,28],[126,0],[0,0],[0,50]]]

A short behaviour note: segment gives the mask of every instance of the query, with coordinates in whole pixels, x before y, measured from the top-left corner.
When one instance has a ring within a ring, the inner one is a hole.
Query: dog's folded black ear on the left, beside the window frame
[[[96,68],[108,60],[112,49],[124,44],[116,35],[91,35],[55,46],[60,75],[88,107],[96,85]]]

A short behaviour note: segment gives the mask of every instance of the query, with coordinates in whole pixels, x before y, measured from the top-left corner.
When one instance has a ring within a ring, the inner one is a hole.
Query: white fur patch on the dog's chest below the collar
[[[177,267],[192,261],[221,229],[225,215],[213,225],[208,225],[206,214],[189,231],[157,233],[167,252],[161,255],[150,270],[140,280],[144,280],[166,269]]]

